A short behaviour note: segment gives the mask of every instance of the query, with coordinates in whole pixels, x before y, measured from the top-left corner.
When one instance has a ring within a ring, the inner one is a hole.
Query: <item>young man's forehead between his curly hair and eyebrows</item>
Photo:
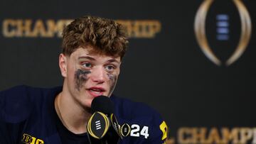
[[[71,55],[70,58],[75,58],[75,59],[79,59],[79,57],[85,57],[85,56],[89,56],[89,57],[93,57],[95,60],[117,60],[118,62],[121,61],[121,58],[118,57],[114,57],[112,55],[105,55],[104,53],[100,53],[97,52],[95,50],[93,50],[92,47],[87,46],[86,48],[78,48],[76,49]]]

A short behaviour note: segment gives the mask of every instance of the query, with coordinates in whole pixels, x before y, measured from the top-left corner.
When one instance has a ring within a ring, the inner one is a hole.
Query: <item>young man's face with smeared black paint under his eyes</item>
[[[78,48],[69,57],[60,54],[63,92],[85,108],[96,96],[110,96],[114,91],[121,64],[120,57],[99,55],[91,47]]]

